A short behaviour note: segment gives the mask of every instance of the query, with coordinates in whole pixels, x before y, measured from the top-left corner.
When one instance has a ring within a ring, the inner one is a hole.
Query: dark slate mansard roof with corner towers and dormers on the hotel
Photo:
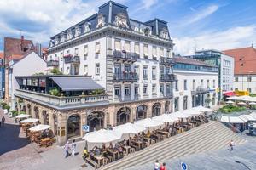
[[[120,21],[119,19],[122,20]],[[125,20],[126,22],[124,23],[123,20]],[[85,24],[90,25],[89,31],[94,31],[99,27],[108,25],[121,26],[123,29],[135,31],[133,30],[134,26],[133,28],[131,28],[131,21],[133,23],[138,23],[139,26],[143,25],[143,27],[137,29],[138,31],[145,31],[145,28],[148,26],[150,28],[150,33],[152,35],[170,40],[170,35],[166,21],[154,19],[148,20],[147,22],[142,22],[130,19],[129,14],[127,12],[127,7],[125,5],[115,3],[113,1],[109,1],[108,3],[102,4],[102,6],[98,8],[98,13],[93,14],[87,19],[80,21],[78,24],[67,28],[65,31],[61,31],[60,33],[56,34],[54,37],[51,37],[50,39],[55,41],[56,37],[61,38],[61,35],[66,36],[68,31],[72,31],[73,36],[73,34],[75,34],[76,28],[79,28],[81,34],[84,34],[88,32],[88,30],[85,31]],[[102,22],[102,26],[99,26],[101,24],[99,22]],[[164,33],[167,33],[167,36],[161,36],[163,33],[162,31],[164,31]]]

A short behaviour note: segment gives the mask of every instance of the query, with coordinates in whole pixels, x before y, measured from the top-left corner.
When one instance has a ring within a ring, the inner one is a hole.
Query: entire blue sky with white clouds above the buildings
[[[3,37],[20,37],[48,46],[49,37],[97,12],[106,0],[9,0],[0,1],[0,51]],[[254,0],[117,0],[131,18],[168,22],[176,54],[194,48],[256,46]]]

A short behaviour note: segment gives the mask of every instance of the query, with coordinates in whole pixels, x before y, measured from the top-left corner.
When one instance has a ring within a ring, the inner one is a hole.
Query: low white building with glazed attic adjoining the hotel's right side
[[[174,111],[192,107],[212,106],[218,103],[218,66],[196,59],[175,57],[173,72],[177,81],[173,85]],[[206,99],[211,99],[209,105]]]

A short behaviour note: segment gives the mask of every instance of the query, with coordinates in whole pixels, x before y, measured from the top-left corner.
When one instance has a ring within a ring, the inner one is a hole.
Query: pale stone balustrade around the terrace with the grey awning
[[[69,97],[58,97],[44,93],[32,92],[28,90],[17,89],[15,95],[28,99],[35,99],[51,105],[65,106],[74,104],[87,104],[96,103],[101,101],[108,101],[108,94],[100,95],[86,95],[86,96],[69,96]]]

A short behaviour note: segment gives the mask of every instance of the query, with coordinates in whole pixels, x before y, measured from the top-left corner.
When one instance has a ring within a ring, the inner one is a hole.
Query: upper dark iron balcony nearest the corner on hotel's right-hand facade
[[[116,61],[131,62],[134,63],[139,58],[139,54],[130,53],[125,51],[113,51],[113,59]]]

